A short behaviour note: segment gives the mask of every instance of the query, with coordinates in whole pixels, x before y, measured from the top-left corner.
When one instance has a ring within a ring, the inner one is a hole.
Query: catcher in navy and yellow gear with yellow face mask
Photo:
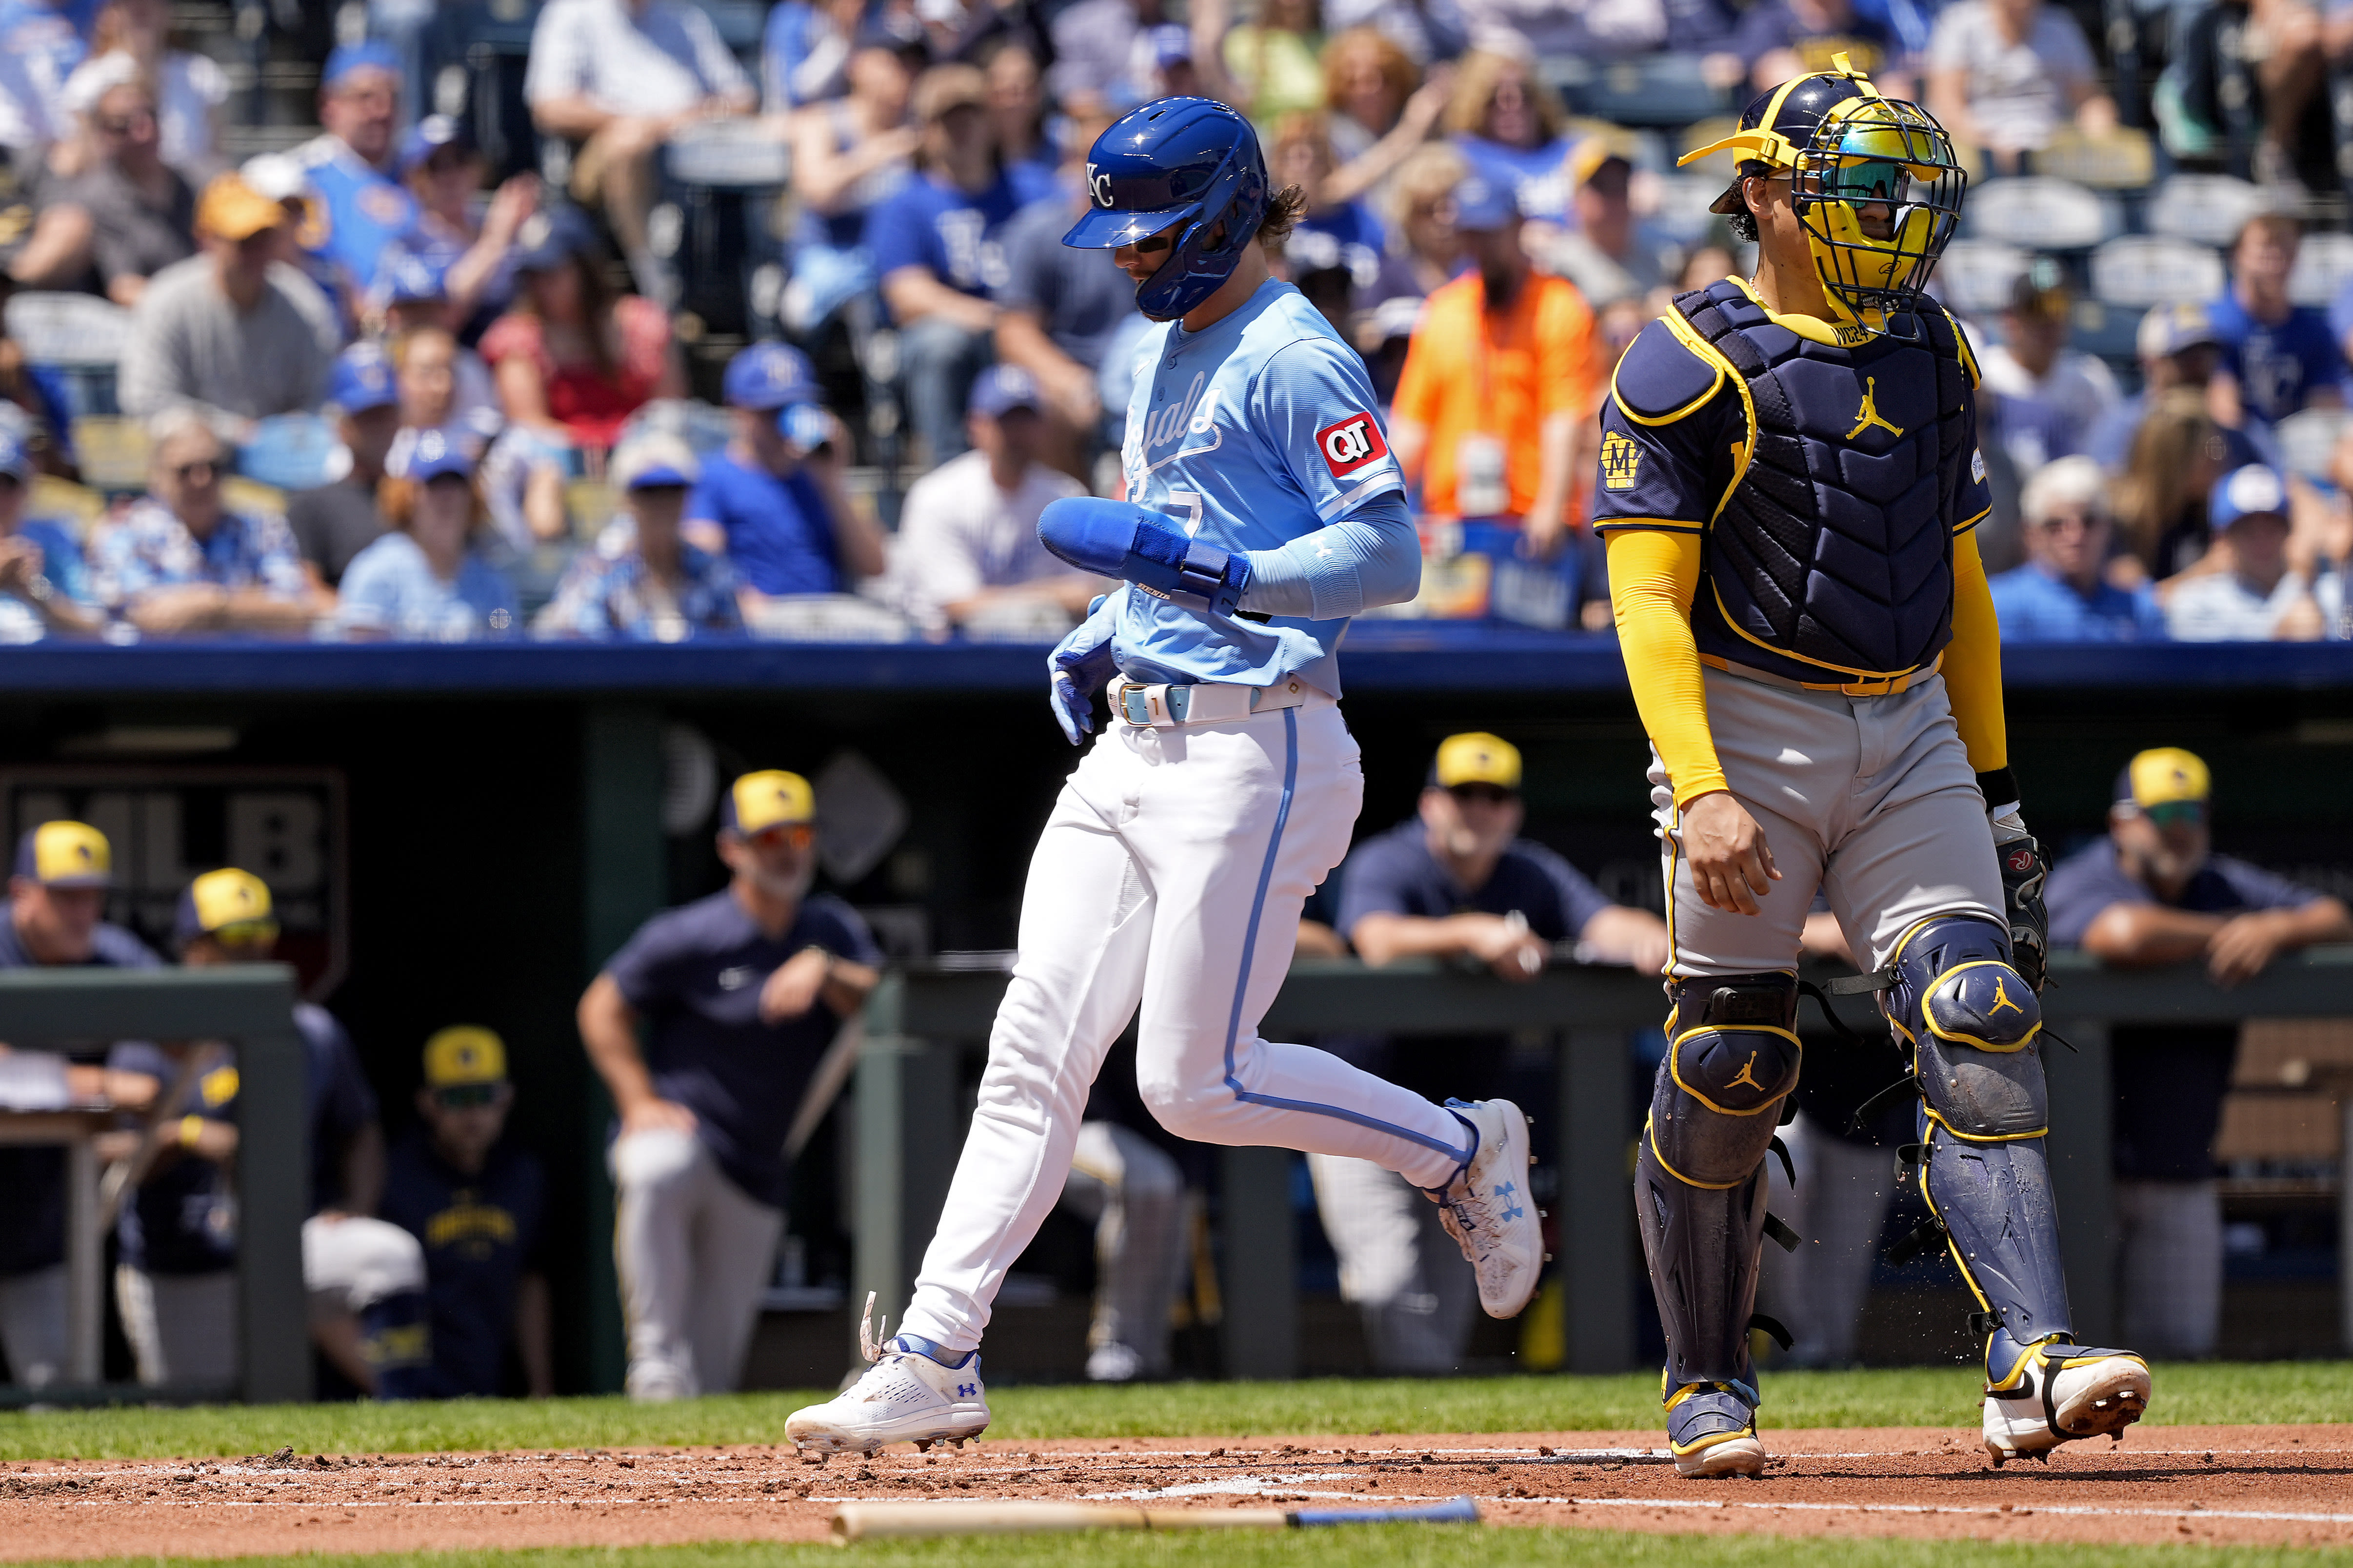
[[[1673,952],[1635,1154],[1675,1469],[1765,1469],[1748,1354],[1814,891],[1920,1091],[1915,1171],[1984,1335],[2000,1465],[2122,1432],[2148,1363],[2075,1342],[2045,1157],[2042,851],[1977,524],[1977,362],[1922,287],[1967,176],[1833,68],[1760,94],[1715,200],[1755,277],[1678,294],[1602,404],[1595,529],[1652,741]],[[1772,1324],[1769,1328],[1779,1328]],[[1788,1342],[1788,1333],[1779,1335]]]

